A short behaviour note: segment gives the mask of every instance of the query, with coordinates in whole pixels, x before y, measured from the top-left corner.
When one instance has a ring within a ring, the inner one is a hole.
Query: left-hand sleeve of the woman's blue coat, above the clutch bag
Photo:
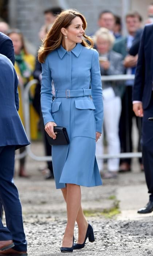
[[[44,125],[48,122],[55,122],[51,115],[52,107],[52,77],[48,65],[48,59],[42,63],[42,86],[41,86],[41,108],[44,119]]]

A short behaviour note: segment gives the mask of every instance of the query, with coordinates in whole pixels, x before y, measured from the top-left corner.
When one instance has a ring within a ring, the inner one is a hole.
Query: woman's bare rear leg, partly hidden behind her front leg
[[[62,188],[62,193],[65,201],[67,202],[67,188]],[[78,244],[83,244],[86,236],[86,231],[88,227],[88,222],[85,218],[85,215],[83,214],[82,206],[80,204],[78,215],[76,217],[76,222],[78,225]]]

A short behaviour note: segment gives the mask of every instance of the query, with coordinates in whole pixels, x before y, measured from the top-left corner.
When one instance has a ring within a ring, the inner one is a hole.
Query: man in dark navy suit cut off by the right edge
[[[136,77],[133,87],[133,111],[142,119],[142,158],[144,163],[149,203],[138,213],[153,211],[153,24],[142,33]]]

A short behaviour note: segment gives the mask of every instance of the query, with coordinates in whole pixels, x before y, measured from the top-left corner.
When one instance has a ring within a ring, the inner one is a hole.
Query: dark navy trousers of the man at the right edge
[[[148,121],[149,117],[153,117],[153,93],[142,120],[142,158],[148,193],[150,200],[153,201],[153,122]]]

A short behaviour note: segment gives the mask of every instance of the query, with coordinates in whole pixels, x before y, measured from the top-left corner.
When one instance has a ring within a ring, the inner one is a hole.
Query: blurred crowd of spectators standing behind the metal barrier
[[[39,39],[44,39],[47,31],[52,27],[56,16],[60,14],[62,8],[55,7],[44,11],[44,25],[40,28]],[[146,23],[152,23],[153,4],[148,6],[148,19]],[[138,12],[130,12],[125,17],[127,35],[122,35],[122,20],[119,16],[109,10],[104,10],[99,14],[99,29],[90,34],[94,39],[95,48],[99,53],[99,65],[101,75],[121,75],[135,74],[138,46],[142,33],[142,17]],[[21,87],[33,78],[38,80],[30,90],[30,129],[31,139],[38,138],[38,130],[41,131],[46,155],[51,155],[51,146],[48,144],[44,132],[43,118],[40,110],[40,90],[42,79],[42,67],[37,56],[28,52],[24,35],[19,29],[10,29],[4,21],[0,22],[0,31],[7,34],[13,42],[15,49],[15,70],[19,77],[19,114],[24,124],[23,99]],[[142,118],[136,117],[132,109],[132,88],[133,80],[126,82],[107,81],[102,82],[103,103],[104,103],[104,123],[101,139],[97,142],[96,155],[103,155],[103,143],[107,145],[108,154],[127,153],[133,151],[132,125],[133,117],[136,118],[138,131],[137,151],[141,152],[141,127]],[[103,138],[105,138],[103,142]],[[20,153],[24,148],[20,149]],[[25,170],[25,160],[20,160],[19,176],[28,177]],[[99,170],[103,171],[103,160],[98,158]],[[144,170],[142,159],[139,159],[140,170]],[[48,169],[46,179],[54,178],[52,162],[48,161],[47,166],[42,168],[45,172]],[[107,172],[103,173],[103,178],[114,178],[118,172],[131,171],[131,159],[108,159]]]

